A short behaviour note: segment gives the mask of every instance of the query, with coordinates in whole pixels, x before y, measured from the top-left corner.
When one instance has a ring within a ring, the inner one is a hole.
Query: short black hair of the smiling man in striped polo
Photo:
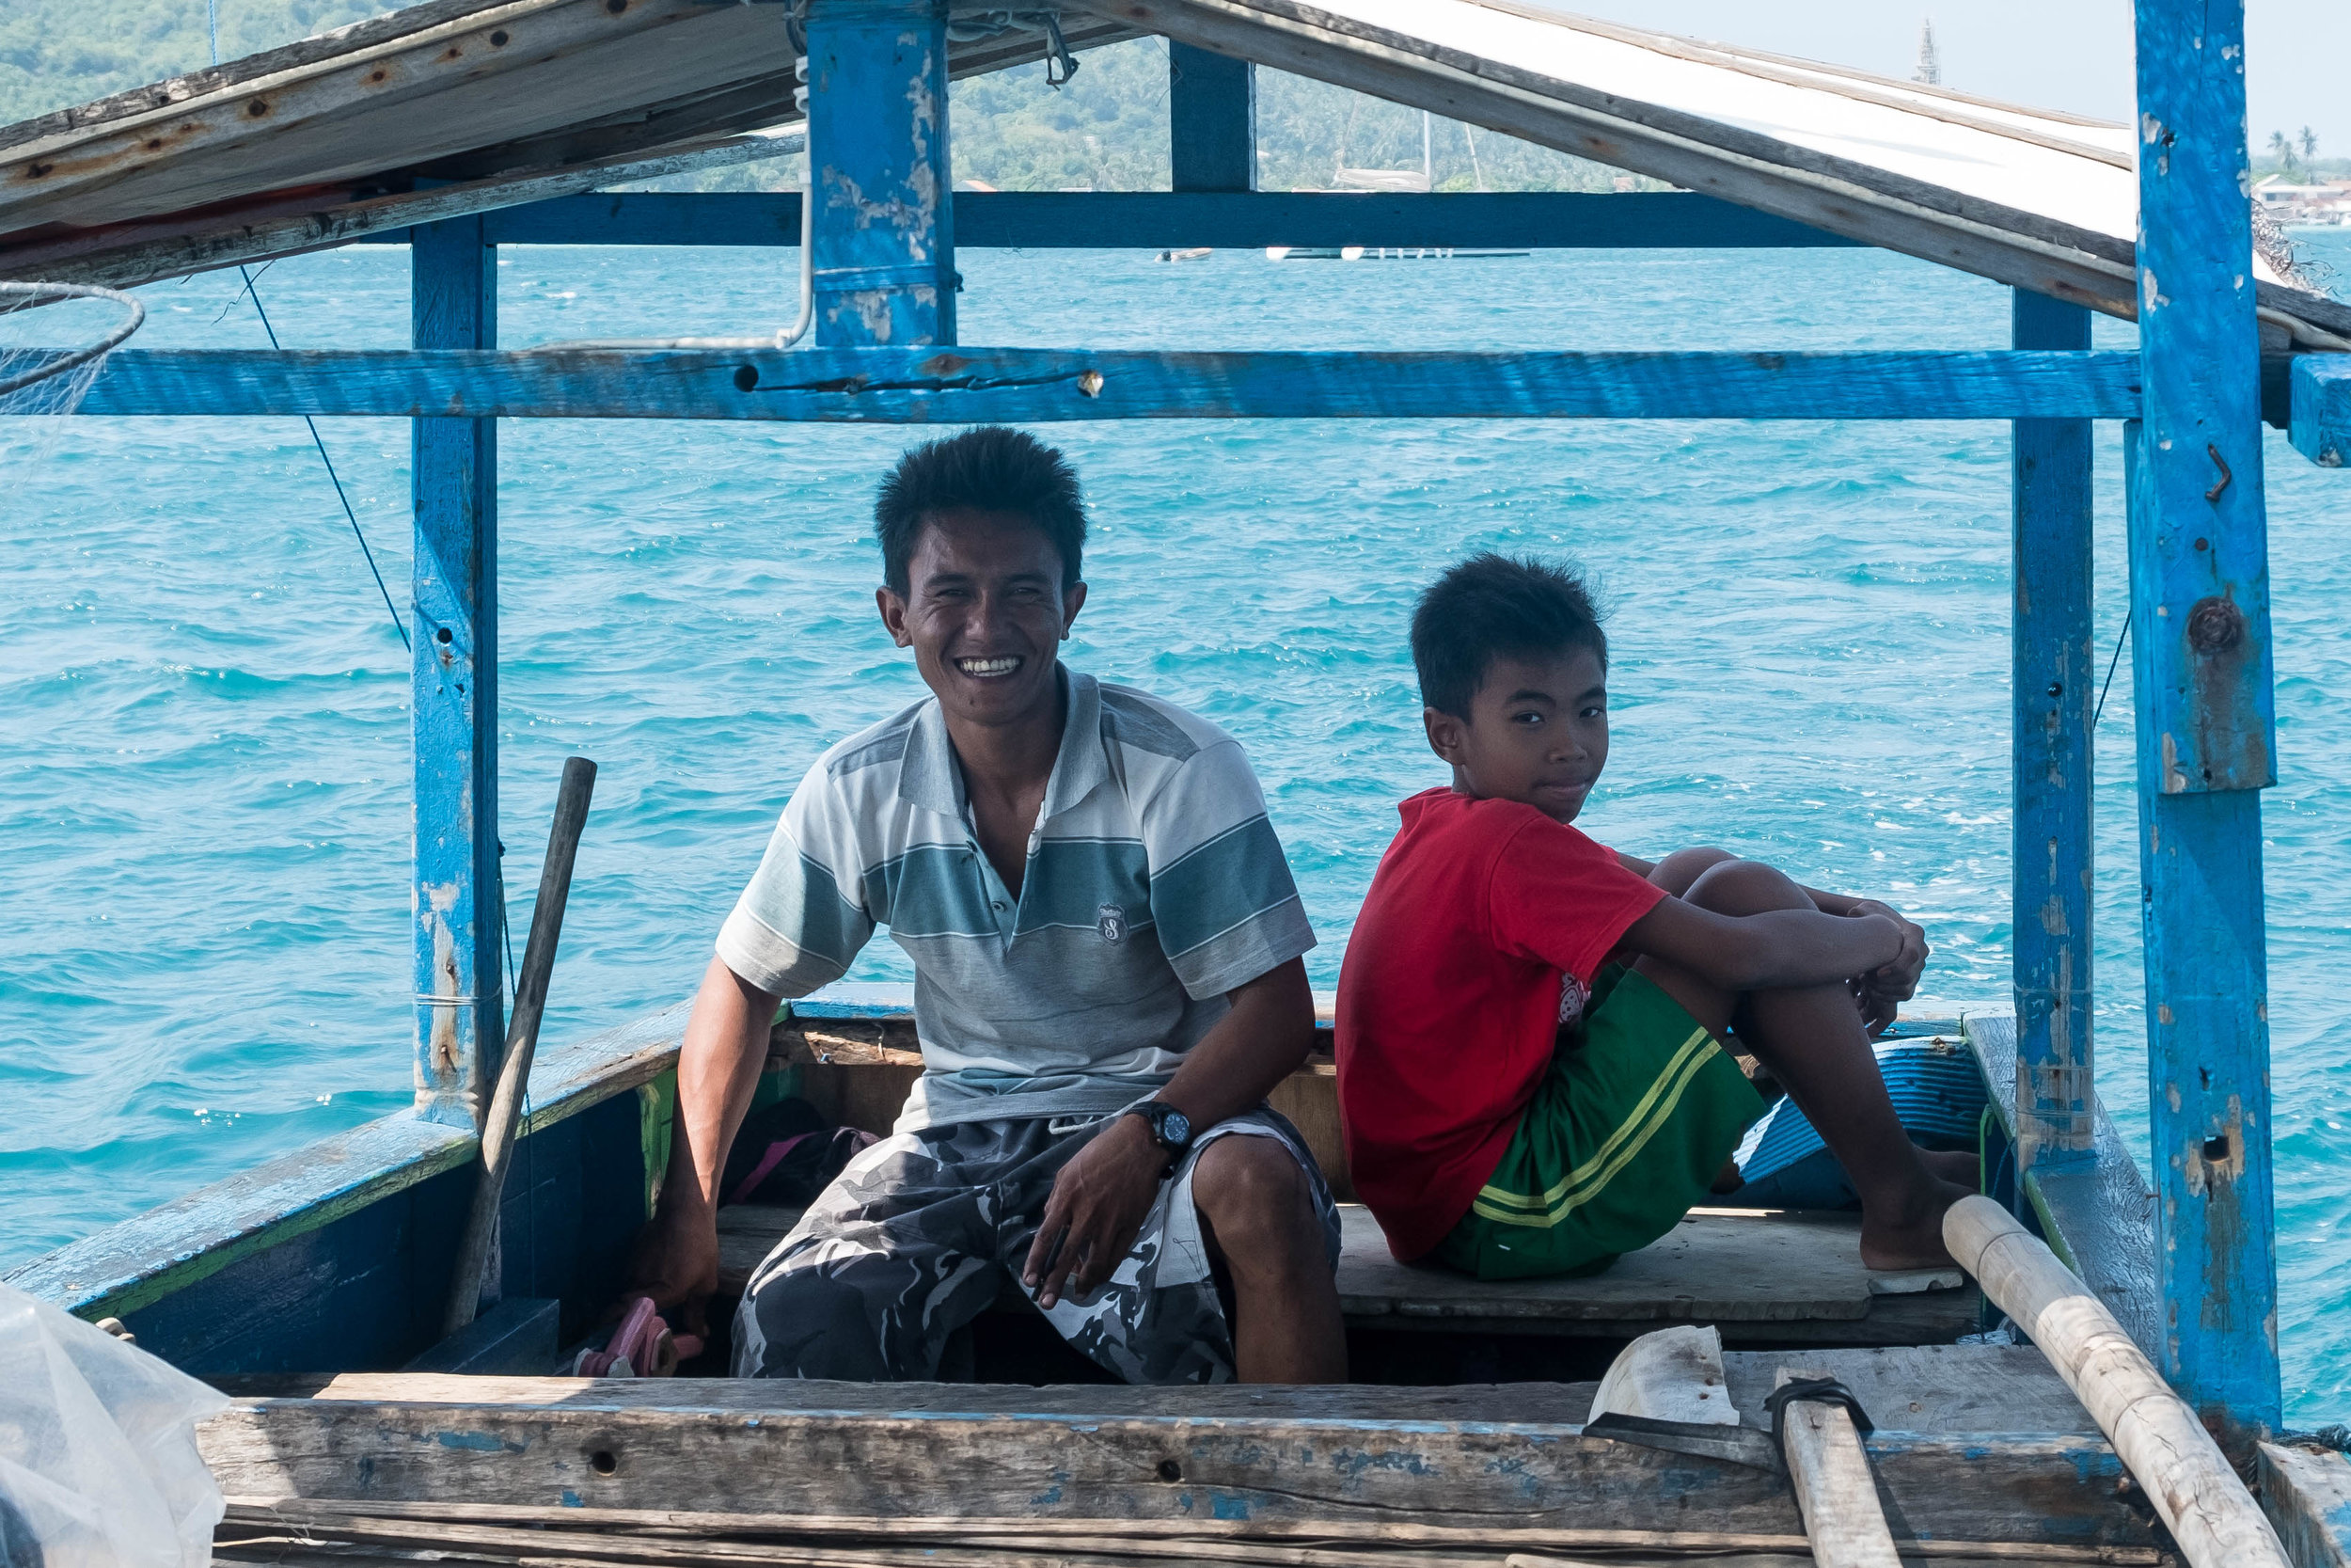
[[[1086,552],[1086,501],[1070,461],[1027,430],[980,425],[898,458],[875,496],[882,581],[891,592],[907,592],[924,515],[947,508],[1020,512],[1060,550],[1063,590],[1077,583]]]

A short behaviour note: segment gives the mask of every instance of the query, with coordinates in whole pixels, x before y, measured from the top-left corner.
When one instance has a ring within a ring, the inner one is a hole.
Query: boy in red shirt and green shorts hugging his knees
[[[1735,1027],[1846,1164],[1862,1260],[1947,1267],[1972,1157],[1911,1145],[1869,1051],[1921,931],[1719,849],[1648,865],[1568,825],[1608,762],[1608,639],[1570,571],[1453,567],[1413,665],[1453,785],[1404,802],[1338,990],[1347,1161],[1396,1258],[1589,1274],[1669,1232],[1763,1114]]]

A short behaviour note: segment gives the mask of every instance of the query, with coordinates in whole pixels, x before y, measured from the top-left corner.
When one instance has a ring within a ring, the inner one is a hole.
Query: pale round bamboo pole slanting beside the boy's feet
[[[1951,1204],[1942,1241],[2050,1359],[2196,1568],[2292,1568],[2219,1443],[2090,1288],[1987,1197]]]

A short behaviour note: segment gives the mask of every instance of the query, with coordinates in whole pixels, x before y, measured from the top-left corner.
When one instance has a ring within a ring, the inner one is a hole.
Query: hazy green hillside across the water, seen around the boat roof
[[[221,56],[235,59],[397,9],[381,0],[219,0]],[[197,71],[209,63],[205,0],[0,0],[0,125]],[[1065,87],[1044,66],[957,82],[957,179],[999,190],[1164,190],[1166,45],[1143,38],[1079,56]],[[1258,73],[1258,183],[1326,188],[1340,167],[1420,169],[1420,115],[1277,71]],[[797,183],[797,160],[719,169],[668,186],[748,190]],[[1608,190],[1615,172],[1545,148],[1429,129],[1439,190]],[[1653,181],[1639,181],[1655,188]]]

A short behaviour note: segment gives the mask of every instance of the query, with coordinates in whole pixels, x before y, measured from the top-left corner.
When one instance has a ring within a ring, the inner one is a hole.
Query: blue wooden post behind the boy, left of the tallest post
[[[2017,289],[2015,348],[2090,348],[2090,313]],[[2020,418],[2015,508],[2017,1173],[2090,1159],[2090,421]],[[2022,1190],[2020,1190],[2022,1197]]]

